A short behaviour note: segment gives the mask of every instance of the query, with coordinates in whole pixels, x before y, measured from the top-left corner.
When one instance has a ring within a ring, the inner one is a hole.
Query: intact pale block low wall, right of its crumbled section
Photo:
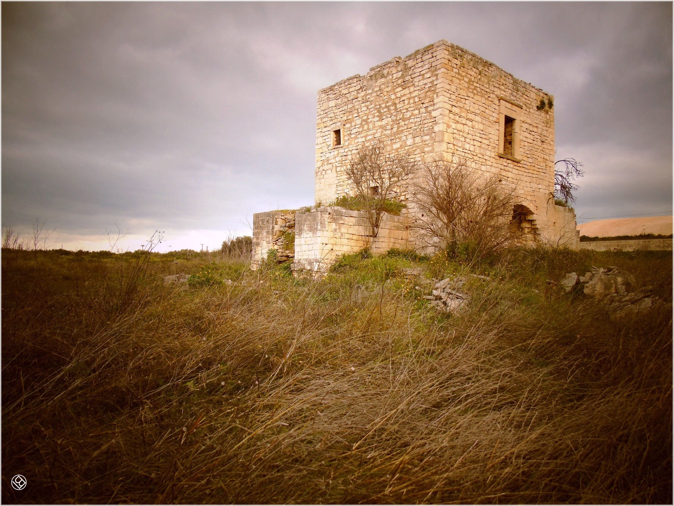
[[[384,215],[374,242],[365,213],[339,207],[319,207],[295,215],[295,262],[292,269],[325,272],[342,256],[370,248],[375,254],[409,248],[408,221]]]

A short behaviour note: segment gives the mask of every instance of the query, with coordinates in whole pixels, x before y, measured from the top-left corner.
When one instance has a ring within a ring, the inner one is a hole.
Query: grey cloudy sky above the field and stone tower
[[[2,225],[217,248],[313,203],[317,90],[439,39],[555,95],[579,221],[672,209],[672,4],[2,4]]]

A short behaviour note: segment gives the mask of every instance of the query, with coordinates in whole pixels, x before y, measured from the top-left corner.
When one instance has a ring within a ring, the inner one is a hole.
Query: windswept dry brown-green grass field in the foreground
[[[663,304],[611,320],[548,283],[591,265]],[[489,279],[447,316],[409,267]],[[671,252],[354,255],[310,281],[3,250],[2,500],[671,503],[671,302]]]

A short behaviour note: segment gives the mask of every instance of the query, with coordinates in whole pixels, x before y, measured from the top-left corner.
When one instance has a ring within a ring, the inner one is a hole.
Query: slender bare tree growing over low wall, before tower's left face
[[[377,237],[379,233],[386,200],[415,167],[415,162],[405,155],[385,152],[384,145],[379,141],[359,149],[355,159],[346,167],[346,176],[353,183],[356,197],[367,213],[371,237]]]

